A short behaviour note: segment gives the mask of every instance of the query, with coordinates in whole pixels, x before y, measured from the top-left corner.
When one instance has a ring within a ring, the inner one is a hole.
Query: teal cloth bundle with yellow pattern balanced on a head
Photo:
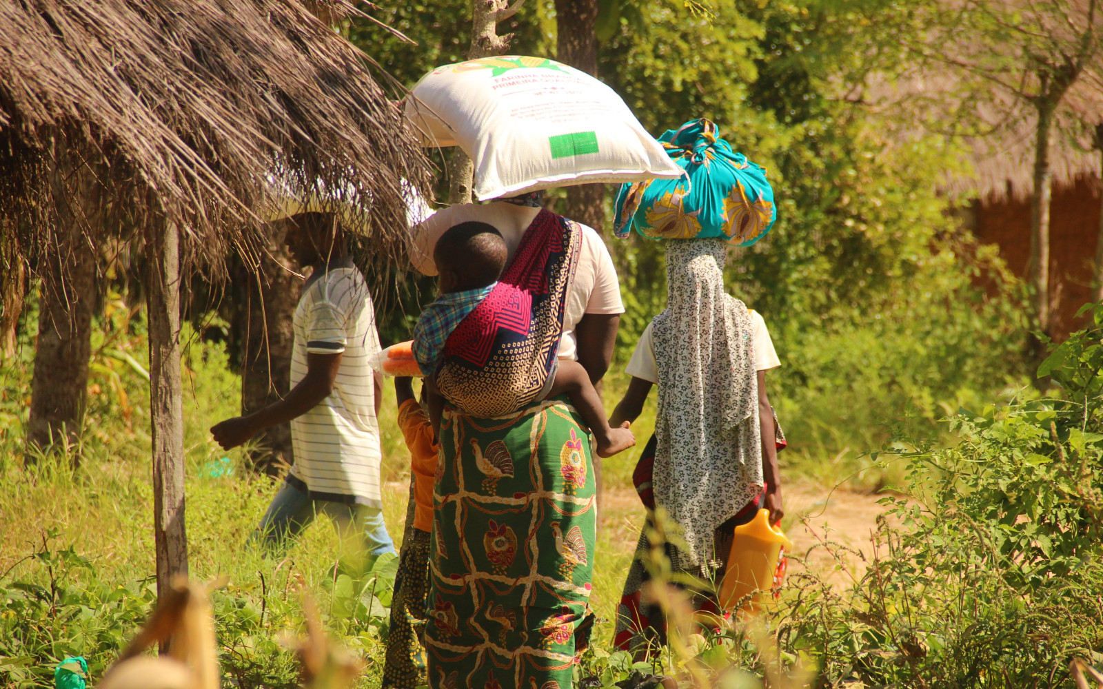
[[[727,239],[749,246],[777,219],[773,189],[765,170],[720,138],[707,119],[667,130],[658,141],[686,174],[621,185],[613,230],[633,228],[651,239]]]

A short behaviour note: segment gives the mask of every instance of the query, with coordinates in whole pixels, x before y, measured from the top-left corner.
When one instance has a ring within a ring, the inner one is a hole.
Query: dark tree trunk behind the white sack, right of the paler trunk
[[[576,69],[598,74],[597,0],[556,0],[556,57]],[[606,185],[567,187],[564,215],[601,232],[606,226]]]

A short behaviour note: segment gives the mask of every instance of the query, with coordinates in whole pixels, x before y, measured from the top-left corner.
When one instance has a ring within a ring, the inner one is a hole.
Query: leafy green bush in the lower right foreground
[[[879,526],[882,556],[846,594],[807,586],[782,636],[822,681],[1067,686],[1103,645],[1103,355],[1096,325],[1053,349],[1064,394],[961,412],[957,442],[902,455],[907,497]]]

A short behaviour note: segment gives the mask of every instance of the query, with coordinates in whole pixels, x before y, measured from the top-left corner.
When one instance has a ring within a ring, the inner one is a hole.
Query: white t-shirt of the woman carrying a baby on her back
[[[510,256],[521,244],[521,237],[528,229],[539,208],[518,206],[512,203],[496,202],[486,204],[458,204],[437,211],[424,223],[414,228],[414,240],[410,247],[410,262],[427,276],[437,274],[437,266],[432,262],[432,249],[450,227],[471,220],[479,220],[493,226],[505,239]],[[624,313],[624,304],[620,297],[620,282],[617,279],[617,268],[609,255],[606,243],[591,227],[581,225],[582,246],[578,252],[578,266],[575,268],[575,281],[567,292],[567,304],[563,314],[563,340],[559,343],[559,358],[577,359],[575,345],[575,326],[587,313],[619,314]]]

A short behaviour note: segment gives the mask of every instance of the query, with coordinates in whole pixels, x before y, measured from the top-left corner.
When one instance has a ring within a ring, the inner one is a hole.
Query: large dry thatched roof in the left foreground
[[[394,240],[403,177],[430,180],[365,56],[300,2],[0,2],[0,232],[49,235],[66,193],[51,171],[82,160],[106,224],[175,223],[185,260],[215,268],[263,232],[275,165],[353,190],[343,203]]]

